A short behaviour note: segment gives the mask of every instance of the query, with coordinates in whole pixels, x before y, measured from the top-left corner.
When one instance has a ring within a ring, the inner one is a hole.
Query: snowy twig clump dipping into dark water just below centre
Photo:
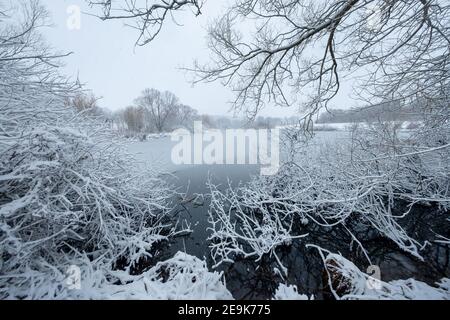
[[[277,211],[276,208],[272,211],[264,204],[252,206],[252,203],[246,202],[254,199],[254,190],[251,188],[238,191],[229,188],[223,193],[211,183],[209,187],[209,222],[213,232],[209,240],[215,266],[222,262],[232,262],[236,255],[260,261],[268,254],[286,272],[275,249],[280,245],[289,245],[293,239],[306,236],[293,235],[292,216],[286,216],[283,210]]]

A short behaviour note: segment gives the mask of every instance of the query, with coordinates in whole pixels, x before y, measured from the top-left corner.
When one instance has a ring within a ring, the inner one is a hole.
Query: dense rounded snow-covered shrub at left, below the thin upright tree
[[[126,157],[67,128],[41,127],[0,157],[3,271],[53,263],[54,252],[101,250],[131,262],[166,239],[159,220],[169,195]],[[167,230],[166,230],[167,229]],[[50,250],[51,248],[51,250]],[[50,252],[49,252],[50,250]]]

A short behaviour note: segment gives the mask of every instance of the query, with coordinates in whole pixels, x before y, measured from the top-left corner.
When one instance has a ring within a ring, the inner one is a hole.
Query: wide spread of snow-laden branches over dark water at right
[[[389,123],[357,127],[333,145],[292,142],[296,134],[287,132],[287,159],[276,175],[255,177],[238,188],[211,185],[210,247],[216,264],[236,255],[259,260],[271,254],[278,260],[275,249],[305,237],[302,226],[308,223],[343,227],[369,261],[350,224],[422,259],[425,243],[399,220],[416,204],[448,210],[450,131],[446,121],[435,124],[437,131],[407,134]]]

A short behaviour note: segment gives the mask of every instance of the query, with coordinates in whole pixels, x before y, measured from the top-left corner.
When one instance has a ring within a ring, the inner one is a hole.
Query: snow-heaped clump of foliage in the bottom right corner
[[[340,254],[317,248],[324,261],[328,288],[336,299],[364,300],[449,300],[450,280],[434,287],[414,279],[384,282],[362,272]]]

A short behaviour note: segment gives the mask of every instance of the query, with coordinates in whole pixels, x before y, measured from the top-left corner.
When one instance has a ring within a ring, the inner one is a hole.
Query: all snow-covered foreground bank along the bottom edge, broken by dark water
[[[321,250],[321,249],[319,249]],[[435,286],[414,279],[384,282],[359,270],[339,254],[320,251],[329,290],[337,300],[449,300],[450,279]],[[81,260],[80,260],[81,261]],[[36,275],[36,286],[11,292],[9,299],[46,300],[233,300],[222,272],[209,271],[206,262],[178,252],[140,275],[110,270],[101,260],[85,260],[80,269],[79,287],[70,287],[73,278],[58,269],[45,277]],[[314,300],[297,286],[280,283],[273,300]]]

